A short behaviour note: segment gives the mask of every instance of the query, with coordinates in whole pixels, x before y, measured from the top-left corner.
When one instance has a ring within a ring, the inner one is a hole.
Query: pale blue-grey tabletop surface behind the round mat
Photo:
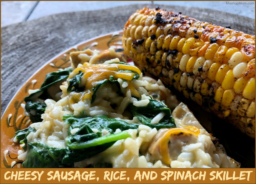
[[[93,11],[129,4],[209,8],[255,19],[255,1],[1,1],[1,27],[56,13]]]

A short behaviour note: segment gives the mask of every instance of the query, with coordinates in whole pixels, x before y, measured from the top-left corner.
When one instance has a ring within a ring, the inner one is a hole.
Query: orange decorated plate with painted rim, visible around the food
[[[29,118],[23,114],[23,108],[20,106],[20,104],[24,103],[28,90],[40,88],[47,73],[70,66],[69,53],[72,51],[86,48],[100,51],[114,48],[116,51],[122,51],[122,36],[123,32],[118,31],[81,42],[46,62],[28,79],[12,98],[1,119],[1,168],[21,166],[21,162],[17,158],[19,145],[13,143],[12,137],[16,131],[27,128],[31,124]],[[195,103],[179,96],[178,98],[188,105],[189,109],[208,132],[219,138],[228,156],[240,162],[242,167],[255,168],[255,139],[246,136],[240,130],[235,129],[214,115],[205,112]]]

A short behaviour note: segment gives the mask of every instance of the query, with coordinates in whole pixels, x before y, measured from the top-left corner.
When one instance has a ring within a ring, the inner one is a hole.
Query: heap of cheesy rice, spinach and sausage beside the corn
[[[23,167],[240,167],[160,80],[114,49],[70,59],[25,98],[33,123],[13,138]]]

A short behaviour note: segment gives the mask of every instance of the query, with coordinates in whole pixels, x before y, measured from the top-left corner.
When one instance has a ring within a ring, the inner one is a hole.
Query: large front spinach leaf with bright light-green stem
[[[117,140],[130,137],[128,132],[113,134],[117,128],[126,130],[129,128],[137,129],[138,124],[129,124],[125,121],[119,121],[114,118],[108,118],[106,115],[95,117],[85,117],[74,115],[64,115],[63,120],[70,124],[68,129],[68,137],[65,139],[67,144],[66,155],[63,157],[63,164],[78,162],[86,158],[92,157],[112,146]],[[79,128],[74,134],[72,129]],[[92,128],[98,129],[99,132],[94,133]],[[109,136],[102,136],[102,129],[108,130]]]

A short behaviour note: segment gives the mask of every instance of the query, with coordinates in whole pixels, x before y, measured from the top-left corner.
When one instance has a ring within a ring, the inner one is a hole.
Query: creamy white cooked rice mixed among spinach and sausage
[[[85,53],[79,54],[78,57],[82,61],[90,60],[90,63],[95,63],[99,60],[100,56],[97,55],[97,52],[93,53],[94,55],[88,55]],[[109,54],[112,56],[115,55],[114,49],[110,49]],[[111,63],[119,62],[119,58],[115,58],[105,61],[104,64],[109,65]],[[82,70],[84,67],[90,65],[90,63],[77,63],[77,67]],[[77,71],[78,70],[76,70],[76,72],[72,72],[69,75],[68,80],[76,76]],[[170,75],[170,72],[168,74],[168,71],[164,71],[163,75]],[[81,78],[79,86],[83,86],[87,80],[87,78]],[[126,109],[129,104],[132,104],[135,107],[147,107],[151,99],[158,102],[164,100],[169,108],[171,107],[174,109],[174,107],[179,104],[177,98],[171,94],[170,90],[167,89],[160,80],[156,81],[151,77],[142,77],[142,74],[140,74],[137,79],[133,79],[131,81],[124,80],[122,78],[118,78],[116,81],[117,82],[107,82],[100,85],[95,93],[95,99],[92,103],[88,96],[86,96],[88,95],[86,91],[68,92],[68,82],[63,82],[62,85],[60,85],[60,89],[62,90],[62,95],[60,96],[61,99],[58,101],[54,101],[52,99],[45,100],[47,107],[44,114],[42,114],[43,121],[31,124],[31,127],[36,129],[36,132],[28,134],[28,142],[41,142],[58,149],[66,148],[67,145],[65,139],[69,135],[68,129],[70,124],[66,123],[62,119],[65,114],[75,116],[82,115],[86,117],[106,115],[108,118],[115,118],[116,120],[125,121],[130,124],[136,123],[139,124],[139,126],[137,129],[124,130],[125,132],[128,132],[130,137],[116,141],[112,146],[99,154],[93,155],[92,157],[79,162],[75,162],[74,167],[83,168],[89,165],[100,167],[102,166],[102,163],[111,164],[114,168],[219,168],[222,166],[234,166],[234,164],[231,164],[231,158],[225,155],[223,149],[216,149],[208,132],[206,132],[199,123],[197,126],[198,129],[200,129],[198,136],[187,135],[187,137],[189,137],[188,139],[184,137],[177,138],[176,135],[170,135],[170,137],[168,137],[173,142],[173,147],[168,147],[168,153],[170,153],[172,159],[170,163],[166,163],[162,153],[159,152],[160,143],[156,140],[158,140],[157,137],[163,137],[163,135],[165,135],[164,133],[168,129],[157,130],[156,128],[150,128],[147,125],[143,125],[138,117],[132,117],[131,113],[129,114]],[[119,86],[117,87],[116,84],[119,84]],[[150,123],[152,125],[158,124],[165,115],[166,114],[164,112],[156,114]],[[187,115],[187,118],[193,118],[191,114]],[[183,122],[185,124],[187,123],[187,125],[191,123],[190,121],[188,123],[186,121],[187,119],[184,119],[184,113],[182,116],[178,116],[178,114],[176,114],[176,116],[177,128],[180,128],[179,123]],[[74,135],[78,130],[79,128],[71,129],[70,134]],[[92,131],[94,133],[100,133],[99,129],[96,128],[93,128]],[[100,131],[102,132],[102,136],[111,135],[111,132],[107,129],[102,128]],[[121,132],[121,129],[117,128],[114,134]],[[19,153],[20,155],[18,158],[20,160],[25,160],[27,152],[19,151]]]

